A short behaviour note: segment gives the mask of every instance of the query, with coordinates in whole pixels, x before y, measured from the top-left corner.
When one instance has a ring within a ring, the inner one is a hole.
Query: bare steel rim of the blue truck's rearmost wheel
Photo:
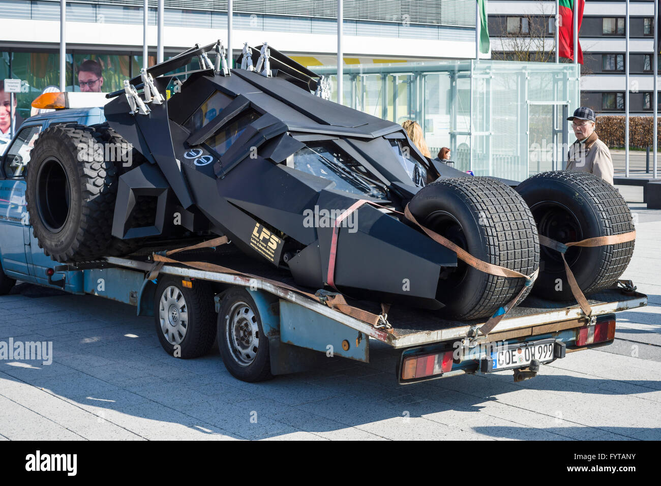
[[[235,302],[225,316],[225,341],[239,366],[250,366],[259,350],[259,326],[250,305]]]

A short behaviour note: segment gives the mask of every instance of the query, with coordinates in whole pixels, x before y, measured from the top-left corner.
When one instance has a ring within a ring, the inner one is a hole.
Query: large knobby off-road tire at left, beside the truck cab
[[[50,126],[30,153],[26,202],[39,246],[59,262],[97,259],[112,230],[117,169],[91,127]]]

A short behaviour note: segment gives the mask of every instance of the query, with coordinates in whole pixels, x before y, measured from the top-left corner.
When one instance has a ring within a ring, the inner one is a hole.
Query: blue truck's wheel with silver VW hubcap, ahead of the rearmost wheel
[[[184,287],[181,278],[161,276],[154,296],[156,333],[177,358],[197,358],[214,345],[214,292],[205,282]]]

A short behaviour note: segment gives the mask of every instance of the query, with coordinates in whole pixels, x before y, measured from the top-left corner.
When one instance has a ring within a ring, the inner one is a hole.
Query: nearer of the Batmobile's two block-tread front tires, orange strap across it
[[[539,266],[533,216],[510,186],[490,177],[439,179],[408,204],[416,220],[482,261],[532,274]],[[525,284],[524,278],[486,274],[461,261],[442,272],[436,298],[458,319],[492,315]],[[521,302],[529,293],[525,290]]]

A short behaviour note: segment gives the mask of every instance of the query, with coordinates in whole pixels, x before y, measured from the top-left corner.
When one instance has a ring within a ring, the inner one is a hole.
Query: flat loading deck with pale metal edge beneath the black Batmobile
[[[133,268],[134,270],[148,271],[153,267],[151,252],[156,249],[143,249],[130,258],[108,257],[108,263]],[[162,250],[160,248],[159,250]],[[327,305],[316,300],[292,292],[284,287],[272,284],[272,280],[282,282],[286,286],[299,288],[301,292],[314,293],[315,289],[303,288],[293,282],[288,270],[262,263],[262,261],[248,257],[233,245],[222,245],[215,249],[204,249],[187,251],[173,255],[173,259],[179,261],[202,261],[231,268],[242,275],[208,272],[197,270],[190,266],[179,264],[166,264],[161,272],[167,274],[178,274],[190,278],[211,280],[227,284],[251,286],[260,288],[272,294],[276,294],[284,300],[294,302],[303,307],[331,317],[332,319],[352,327],[366,335],[379,339],[395,348],[409,346],[421,346],[424,344],[438,343],[449,339],[462,339],[475,335],[477,329],[486,319],[472,321],[459,321],[440,317],[438,311],[428,311],[393,305],[388,313],[388,321],[391,329],[377,329],[354,319],[340,311],[331,309]],[[380,313],[379,304],[375,302],[357,301],[347,298],[347,302],[355,307],[360,307],[373,313]],[[647,297],[639,292],[625,292],[621,288],[609,288],[603,292],[592,294],[588,302],[593,308],[594,315],[613,313],[625,309],[642,307],[647,304]],[[500,339],[512,339],[527,335],[537,335],[544,332],[556,332],[570,327],[585,325],[586,317],[576,302],[554,302],[529,296],[522,304],[514,307],[506,317],[490,333],[489,341]]]

